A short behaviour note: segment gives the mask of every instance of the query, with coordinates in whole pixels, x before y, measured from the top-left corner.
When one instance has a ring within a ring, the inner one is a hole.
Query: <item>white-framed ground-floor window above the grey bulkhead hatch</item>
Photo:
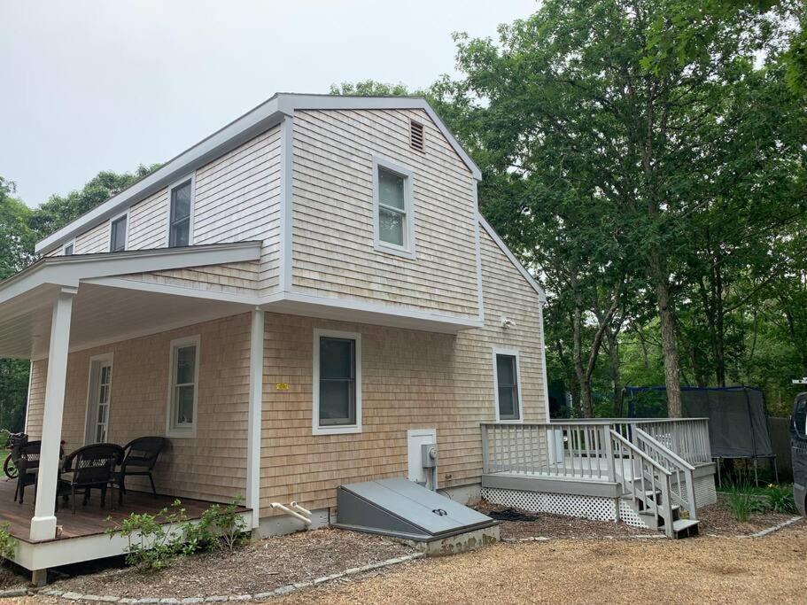
[[[361,432],[361,334],[314,330],[314,435]]]

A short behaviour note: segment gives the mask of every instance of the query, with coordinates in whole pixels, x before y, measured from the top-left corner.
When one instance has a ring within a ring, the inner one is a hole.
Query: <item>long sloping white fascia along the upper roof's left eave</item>
[[[156,170],[128,189],[107,199],[103,204],[82,214],[75,221],[62,229],[45,237],[35,246],[37,254],[50,252],[58,244],[79,235],[80,233],[97,225],[101,221],[122,212],[127,206],[132,206],[140,200],[147,198],[155,191],[159,191],[169,184],[182,178],[182,175],[202,167],[213,159],[221,157],[224,153],[245,143],[253,136],[259,135],[268,128],[275,126],[283,118],[283,112],[278,112],[277,96],[258,105],[250,112],[244,113],[237,120],[231,121],[227,126],[214,132],[190,149],[182,151],[174,159],[169,159],[163,167]]]

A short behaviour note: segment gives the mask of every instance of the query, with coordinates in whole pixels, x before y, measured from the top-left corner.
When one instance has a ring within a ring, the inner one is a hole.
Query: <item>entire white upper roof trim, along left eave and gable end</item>
[[[217,130],[193,145],[187,151],[182,151],[174,159],[170,159],[163,167],[156,170],[126,190],[107,199],[103,204],[82,214],[75,221],[62,229],[45,237],[35,246],[37,254],[49,252],[59,244],[63,244],[76,235],[94,227],[122,212],[126,207],[132,206],[140,200],[172,182],[188,174],[198,167],[202,167],[213,159],[221,157],[241,143],[259,135],[268,128],[279,124],[286,115],[293,115],[295,110],[305,109],[423,109],[429,114],[431,120],[446,137],[448,143],[457,152],[465,165],[469,168],[475,179],[481,180],[482,173],[469,155],[462,149],[460,143],[451,134],[451,131],[440,120],[437,112],[421,97],[342,97],[337,95],[298,95],[293,93],[278,93],[268,101],[258,105],[249,112],[244,113],[237,120],[233,120],[224,128]]]

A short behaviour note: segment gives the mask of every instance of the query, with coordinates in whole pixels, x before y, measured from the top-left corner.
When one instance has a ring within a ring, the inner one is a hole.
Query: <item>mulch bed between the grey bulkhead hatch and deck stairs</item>
[[[518,508],[481,502],[477,510],[485,515],[498,516],[502,539],[523,538],[626,538],[637,535],[655,534],[656,531],[631,527],[613,521],[591,521],[576,516],[531,513]],[[532,521],[516,521],[519,516],[532,518]]]

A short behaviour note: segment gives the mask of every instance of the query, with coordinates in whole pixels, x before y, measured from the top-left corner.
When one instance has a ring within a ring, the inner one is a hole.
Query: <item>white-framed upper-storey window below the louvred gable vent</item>
[[[373,227],[380,252],[415,258],[414,176],[389,159],[373,158]]]

